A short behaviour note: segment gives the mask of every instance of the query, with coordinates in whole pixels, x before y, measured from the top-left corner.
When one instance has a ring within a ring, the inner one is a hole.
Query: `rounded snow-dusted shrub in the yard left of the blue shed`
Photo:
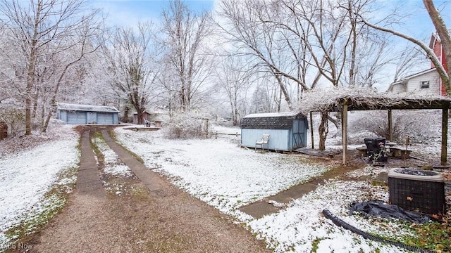
[[[206,119],[180,114],[169,119],[169,122],[165,124],[163,134],[166,138],[209,138],[212,133],[210,128],[211,124],[207,132]]]

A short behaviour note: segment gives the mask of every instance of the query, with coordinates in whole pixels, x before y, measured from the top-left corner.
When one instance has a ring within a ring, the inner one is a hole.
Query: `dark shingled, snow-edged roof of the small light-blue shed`
[[[242,118],[242,129],[291,129],[293,119],[305,118],[301,112],[255,113]]]

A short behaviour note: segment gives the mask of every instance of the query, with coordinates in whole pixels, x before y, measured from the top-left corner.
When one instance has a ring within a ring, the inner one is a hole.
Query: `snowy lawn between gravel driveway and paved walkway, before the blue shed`
[[[147,167],[226,214],[320,176],[328,167],[297,157],[238,148],[229,139],[168,140],[159,132],[116,129],[118,140]]]

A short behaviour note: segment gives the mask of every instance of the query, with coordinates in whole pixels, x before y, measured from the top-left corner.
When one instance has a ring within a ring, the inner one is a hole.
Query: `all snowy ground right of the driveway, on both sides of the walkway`
[[[283,211],[254,219],[237,208],[319,176],[329,168],[302,162],[297,155],[245,150],[236,145],[235,137],[231,137],[233,140],[168,140],[158,131],[134,132],[121,128],[116,129],[116,136],[125,147],[140,155],[147,167],[168,176],[176,186],[221,212],[235,216],[276,252],[311,252],[314,245],[316,252],[375,252],[378,249],[402,252],[396,247],[364,240],[335,226],[321,214],[323,209],[330,209],[363,231],[390,238],[400,236],[399,231],[403,230],[396,223],[379,226],[347,213],[352,202],[388,201],[386,189],[366,182],[328,181],[294,200]],[[353,176],[373,173],[366,167]]]

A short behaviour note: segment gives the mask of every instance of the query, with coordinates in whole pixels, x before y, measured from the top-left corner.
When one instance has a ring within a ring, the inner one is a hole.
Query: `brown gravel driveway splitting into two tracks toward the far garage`
[[[118,150],[108,136],[105,139]],[[146,174],[138,168],[144,183],[123,180],[128,189],[123,195],[99,193],[99,170],[92,173],[97,164],[87,145],[89,136],[83,134],[85,151],[75,193],[63,212],[30,238],[27,244],[34,245],[30,252],[269,252],[264,242],[233,223],[230,216],[152,171]],[[118,150],[118,156],[129,166],[136,162],[124,150]],[[158,183],[157,188],[152,182]]]

